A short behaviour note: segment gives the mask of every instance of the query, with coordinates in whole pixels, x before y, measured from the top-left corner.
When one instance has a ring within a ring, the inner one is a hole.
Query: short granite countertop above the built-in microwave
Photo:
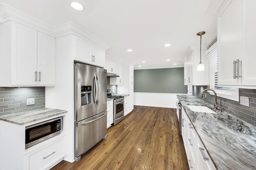
[[[67,111],[59,110],[59,109],[42,108],[42,109],[36,109],[32,111],[0,116],[0,120],[14,123],[17,125],[24,125],[24,124],[34,122],[34,121],[39,121],[48,117],[61,115],[63,113],[67,113]]]

